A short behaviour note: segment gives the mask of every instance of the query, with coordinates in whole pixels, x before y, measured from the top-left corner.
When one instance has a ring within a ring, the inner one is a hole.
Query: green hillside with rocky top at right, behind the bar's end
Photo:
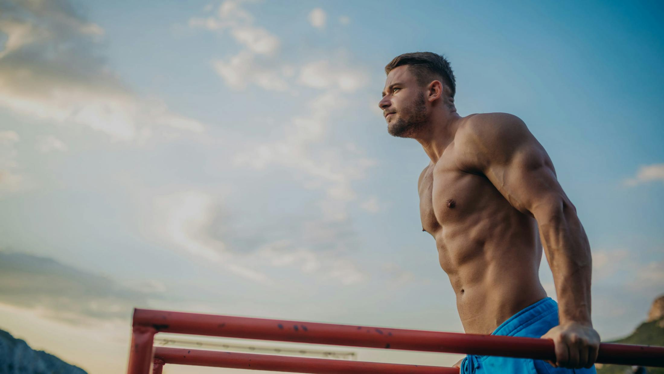
[[[633,333],[612,343],[659,345],[664,347],[664,295],[653,302],[648,319],[636,327]],[[632,373],[631,367],[621,365],[596,365],[597,374]],[[664,367],[647,367],[648,374],[664,374]]]

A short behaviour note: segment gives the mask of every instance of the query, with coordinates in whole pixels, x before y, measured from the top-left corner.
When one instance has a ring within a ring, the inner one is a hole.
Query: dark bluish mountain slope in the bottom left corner
[[[25,341],[0,330],[0,374],[87,374],[44,351],[35,351]]]

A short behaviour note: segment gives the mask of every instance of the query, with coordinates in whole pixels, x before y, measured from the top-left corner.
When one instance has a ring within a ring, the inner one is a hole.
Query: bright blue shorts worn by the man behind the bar
[[[491,335],[541,337],[552,327],[558,326],[558,303],[552,298],[544,298],[521,312],[511,316]],[[511,357],[467,355],[461,361],[461,374],[595,374],[590,369],[565,369],[552,367],[545,361],[535,359],[515,359]]]

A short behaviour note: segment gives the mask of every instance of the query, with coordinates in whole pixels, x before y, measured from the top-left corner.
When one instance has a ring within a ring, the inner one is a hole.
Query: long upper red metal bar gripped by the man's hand
[[[319,324],[143,309],[134,311],[133,321],[134,326],[147,326],[170,333],[555,360],[553,341],[532,337]],[[664,367],[664,347],[602,343],[597,362]]]

